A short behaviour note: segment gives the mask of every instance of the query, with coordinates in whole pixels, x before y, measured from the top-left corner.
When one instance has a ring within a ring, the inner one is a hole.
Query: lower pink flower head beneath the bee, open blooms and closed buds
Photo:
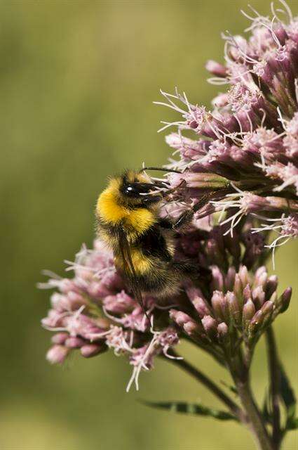
[[[86,358],[112,349],[126,355],[133,366],[129,389],[133,382],[138,388],[141,371],[153,367],[154,357],[175,358],[172,349],[182,338],[218,359],[224,357],[223,343],[233,347],[241,340],[255,345],[266,326],[285,311],[291,291],[278,297],[276,276],[257,268],[264,243],[248,227],[231,238],[224,226],[207,227],[204,221],[201,225],[203,229],[194,226],[177,236],[176,259],[209,268],[210,274],[198,274],[196,285],[182,280],[176,297],[145,297],[145,311],[99,240],[92,250],[83,247],[74,263],[68,262],[74,278],[42,283],[41,288],[58,290],[42,320],[43,327],[55,333],[48,360],[62,363],[75,349]]]

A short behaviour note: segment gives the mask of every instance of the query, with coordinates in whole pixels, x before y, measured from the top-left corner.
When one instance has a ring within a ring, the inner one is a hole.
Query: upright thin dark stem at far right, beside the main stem
[[[274,337],[272,327],[269,327],[266,330],[266,344],[267,344],[271,402],[272,402],[272,412],[273,412],[272,440],[273,440],[274,449],[278,450],[280,447],[280,441],[281,441],[280,409],[279,409],[280,365],[279,365],[278,354],[277,354],[277,349],[276,349],[276,340]]]

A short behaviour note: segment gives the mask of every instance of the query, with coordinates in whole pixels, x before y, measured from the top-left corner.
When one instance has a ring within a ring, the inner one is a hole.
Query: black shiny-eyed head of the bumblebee
[[[156,184],[147,174],[129,171],[123,175],[119,191],[129,205],[149,207],[162,200],[162,195],[154,193],[154,188]]]

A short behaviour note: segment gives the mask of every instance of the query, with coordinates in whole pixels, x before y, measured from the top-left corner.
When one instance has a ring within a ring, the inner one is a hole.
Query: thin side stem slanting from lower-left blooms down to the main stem
[[[179,357],[179,355],[172,350],[172,356],[175,356],[175,358]],[[170,361],[174,363],[176,366],[179,366],[184,371],[189,373],[189,375],[192,375],[196,380],[198,380],[199,383],[204,385],[205,387],[212,392],[212,394],[215,395],[220,401],[222,401],[228,408],[231,413],[233,413],[238,420],[241,422],[246,422],[245,414],[243,413],[242,409],[228,396],[225,394],[225,392],[220,389],[215,383],[213,383],[210,378],[208,378],[207,375],[199,371],[196,367],[192,366],[188,361],[185,361],[185,359],[168,359],[167,361]]]

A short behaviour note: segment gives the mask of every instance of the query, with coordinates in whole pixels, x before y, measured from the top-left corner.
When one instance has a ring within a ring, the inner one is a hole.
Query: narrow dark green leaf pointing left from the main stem
[[[192,414],[194,416],[209,416],[218,420],[238,420],[231,413],[208,408],[208,406],[203,406],[200,404],[186,403],[184,401],[140,401],[147,406],[151,406],[152,408],[165,409],[173,413]]]

